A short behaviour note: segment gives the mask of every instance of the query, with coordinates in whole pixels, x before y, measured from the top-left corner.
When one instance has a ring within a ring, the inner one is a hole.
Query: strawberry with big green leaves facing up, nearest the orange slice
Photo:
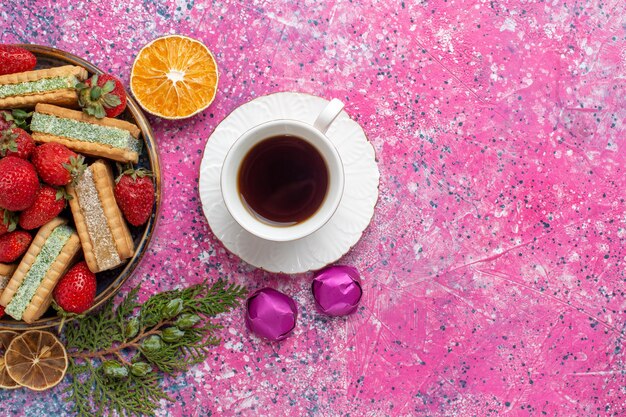
[[[126,91],[122,82],[109,74],[96,74],[76,85],[78,104],[83,112],[98,119],[115,117],[126,108]]]

